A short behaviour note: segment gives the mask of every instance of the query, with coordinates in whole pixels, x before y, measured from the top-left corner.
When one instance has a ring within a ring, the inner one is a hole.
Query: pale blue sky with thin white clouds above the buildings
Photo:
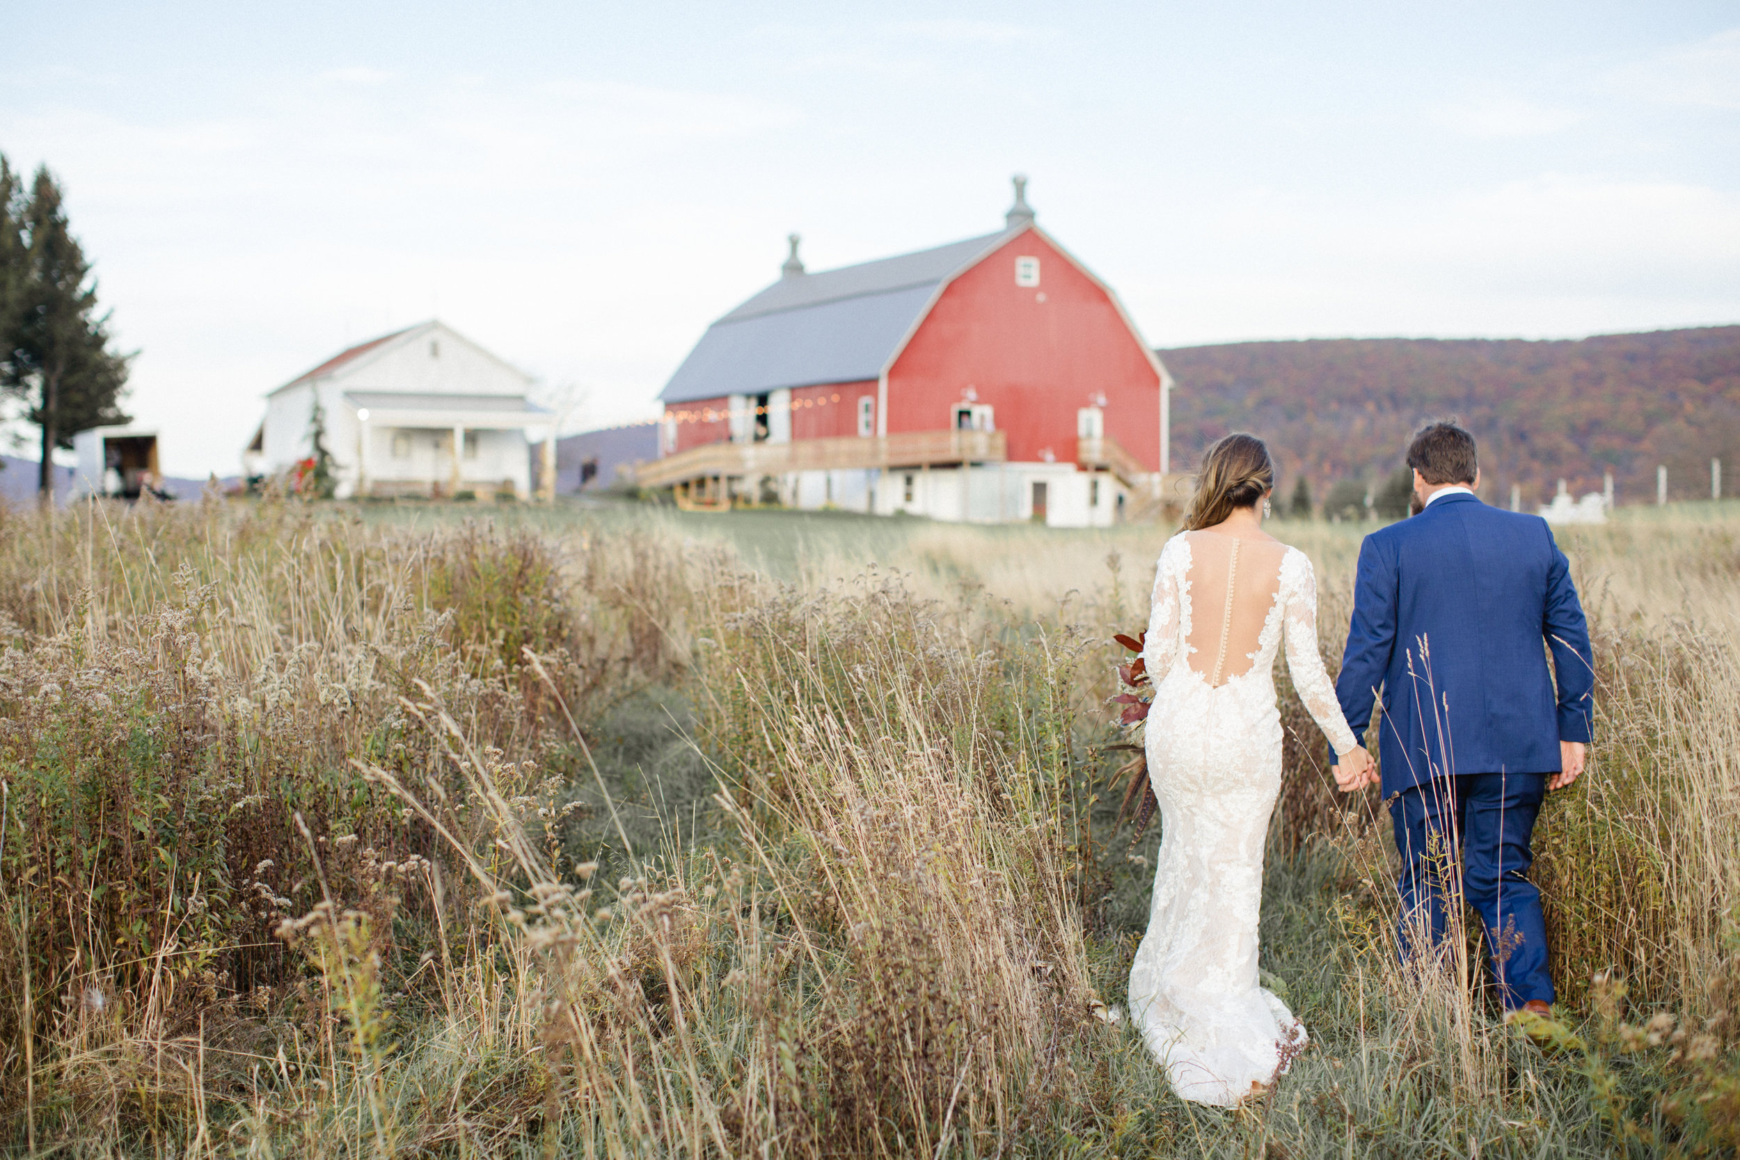
[[[786,233],[988,233],[1013,172],[1157,346],[1740,322],[1733,0],[68,2],[5,21],[0,151],[171,475],[428,317],[649,416]]]

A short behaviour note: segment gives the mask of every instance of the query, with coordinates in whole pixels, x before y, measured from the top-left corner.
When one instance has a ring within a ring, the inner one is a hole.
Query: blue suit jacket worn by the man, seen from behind
[[[1559,741],[1590,739],[1594,685],[1583,607],[1540,517],[1455,494],[1366,536],[1335,690],[1355,734],[1382,694],[1385,797],[1448,774],[1557,772]]]

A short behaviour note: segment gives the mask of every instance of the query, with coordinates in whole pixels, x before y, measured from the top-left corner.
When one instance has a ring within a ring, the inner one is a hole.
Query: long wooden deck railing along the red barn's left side
[[[922,468],[943,463],[1004,463],[1002,431],[901,431],[868,438],[799,438],[790,443],[706,443],[633,468],[640,487],[687,480],[785,475],[849,468]]]

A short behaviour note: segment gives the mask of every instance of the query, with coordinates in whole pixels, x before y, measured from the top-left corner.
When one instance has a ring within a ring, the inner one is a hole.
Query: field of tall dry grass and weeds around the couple
[[[1340,654],[1357,527],[1277,523]],[[1267,1103],[1103,1005],[1157,835],[1105,704],[1168,530],[652,508],[0,513],[0,1148],[1611,1157],[1740,1146],[1740,506],[1561,536],[1597,744],[1559,1017],[1404,972],[1288,694]],[[1284,682],[1282,682],[1284,685]]]

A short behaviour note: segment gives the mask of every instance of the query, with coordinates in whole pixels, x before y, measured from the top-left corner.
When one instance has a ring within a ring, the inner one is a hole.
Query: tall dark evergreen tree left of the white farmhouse
[[[7,358],[0,390],[23,398],[24,417],[42,428],[37,489],[54,494],[54,450],[73,433],[127,423],[120,412],[130,355],[110,350],[108,315],[97,315],[90,263],[73,238],[61,186],[47,165],[37,170],[23,207],[24,270],[14,280],[5,327]]]

